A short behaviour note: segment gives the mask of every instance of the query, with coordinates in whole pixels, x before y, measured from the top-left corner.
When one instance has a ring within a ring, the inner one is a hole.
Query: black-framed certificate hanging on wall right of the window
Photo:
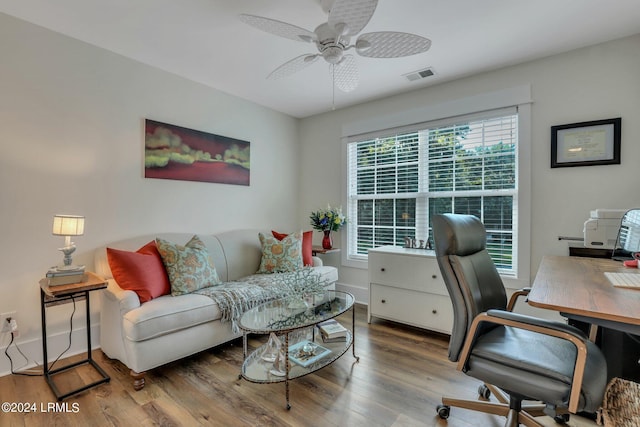
[[[619,165],[620,117],[551,126],[551,167]]]

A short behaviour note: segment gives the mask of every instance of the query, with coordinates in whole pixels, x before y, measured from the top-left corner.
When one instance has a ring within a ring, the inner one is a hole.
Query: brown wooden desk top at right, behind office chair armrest
[[[640,290],[614,287],[604,272],[640,274],[620,261],[546,256],[528,301],[583,322],[640,335]]]

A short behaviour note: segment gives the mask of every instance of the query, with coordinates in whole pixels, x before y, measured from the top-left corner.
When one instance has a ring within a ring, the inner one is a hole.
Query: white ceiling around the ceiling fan
[[[314,45],[237,19],[248,13],[313,31],[327,18],[319,0],[0,0],[0,12],[294,117],[334,102],[323,61],[266,79]],[[336,90],[335,108],[638,34],[640,0],[379,0],[363,30],[372,31],[415,33],[432,47],[406,58],[358,56],[360,84]],[[435,76],[403,77],[426,67]]]

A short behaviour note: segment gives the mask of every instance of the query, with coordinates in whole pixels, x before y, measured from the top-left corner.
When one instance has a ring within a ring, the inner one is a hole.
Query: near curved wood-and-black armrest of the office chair
[[[462,347],[460,359],[458,360],[459,371],[464,371],[471,354],[471,347],[476,337],[478,327],[481,323],[492,323],[495,325],[510,326],[524,329],[539,334],[554,336],[570,341],[576,346],[576,364],[573,371],[573,381],[571,383],[571,393],[569,395],[569,412],[578,411],[580,401],[580,390],[582,389],[582,379],[587,363],[587,336],[572,326],[560,322],[539,319],[524,314],[511,313],[504,310],[488,310],[478,314],[471,323],[467,339]]]

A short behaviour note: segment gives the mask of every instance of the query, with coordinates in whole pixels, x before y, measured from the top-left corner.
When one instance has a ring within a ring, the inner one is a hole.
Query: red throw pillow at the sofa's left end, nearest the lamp
[[[141,303],[171,293],[169,277],[155,241],[136,252],[107,248],[107,259],[118,285],[138,294]]]

